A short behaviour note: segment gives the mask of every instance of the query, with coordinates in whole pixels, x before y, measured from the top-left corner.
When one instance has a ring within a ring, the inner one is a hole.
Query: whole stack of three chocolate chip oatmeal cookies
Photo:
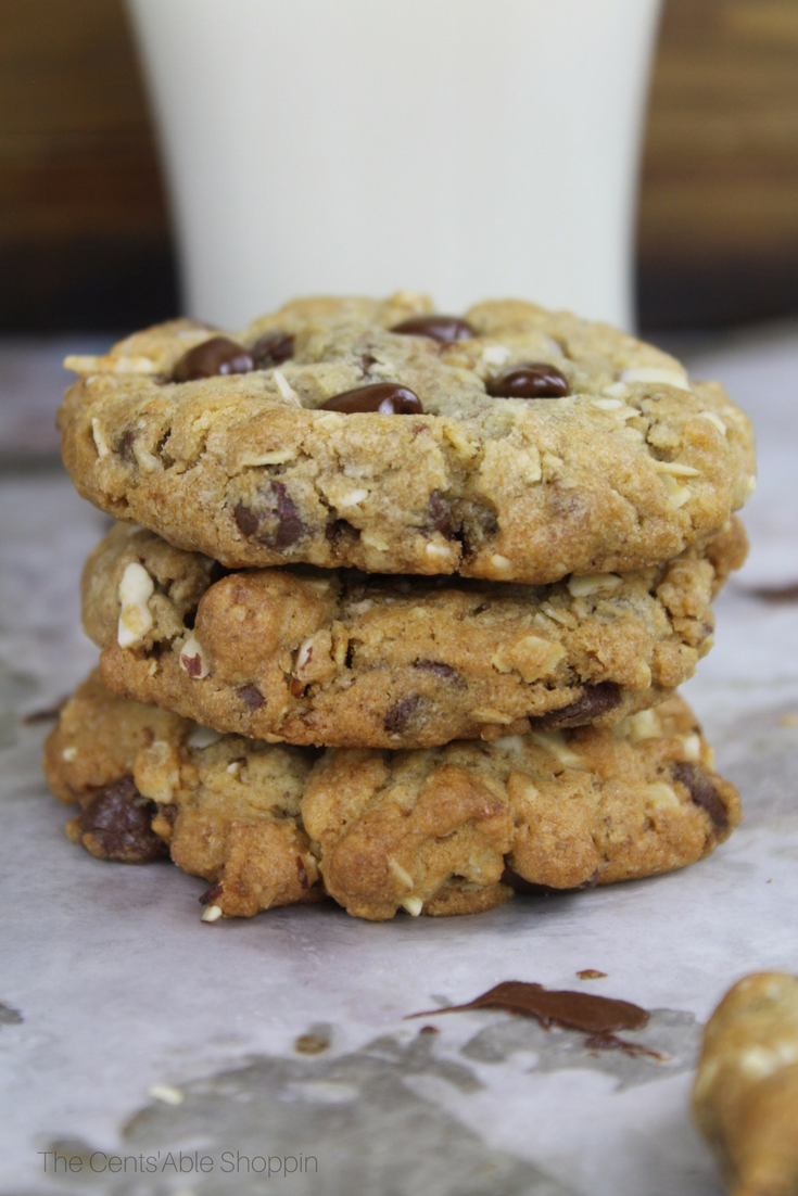
[[[310,299],[175,321],[60,413],[100,648],[47,745],[69,837],[203,917],[467,914],[692,864],[739,820],[676,695],[745,555],[748,420],[569,313]]]

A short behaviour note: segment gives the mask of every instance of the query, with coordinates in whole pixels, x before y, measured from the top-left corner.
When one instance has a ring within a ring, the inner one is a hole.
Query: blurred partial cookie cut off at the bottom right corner
[[[759,972],[725,995],[693,1110],[733,1196],[798,1194],[798,977]]]

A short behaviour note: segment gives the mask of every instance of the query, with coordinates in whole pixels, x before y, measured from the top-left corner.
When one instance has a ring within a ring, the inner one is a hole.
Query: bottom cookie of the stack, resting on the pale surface
[[[307,749],[199,727],[111,695],[97,673],[44,756],[93,855],[162,855],[212,883],[203,917],[329,895],[371,920],[479,913],[683,867],[741,817],[678,697],[611,731],[530,732],[412,751]]]

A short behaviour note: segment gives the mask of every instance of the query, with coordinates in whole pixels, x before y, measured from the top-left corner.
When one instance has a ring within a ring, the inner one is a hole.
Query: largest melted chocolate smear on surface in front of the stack
[[[569,989],[548,990],[542,984],[529,984],[520,980],[504,981],[488,989],[467,1005],[450,1005],[444,1009],[426,1009],[412,1013],[410,1018],[430,1018],[437,1013],[456,1013],[464,1009],[505,1009],[524,1018],[537,1018],[544,1029],[564,1026],[580,1030],[586,1035],[603,1038],[616,1030],[642,1030],[648,1013],[631,1001],[616,1001],[610,996],[592,993],[573,993]],[[407,1020],[407,1019],[406,1019]]]

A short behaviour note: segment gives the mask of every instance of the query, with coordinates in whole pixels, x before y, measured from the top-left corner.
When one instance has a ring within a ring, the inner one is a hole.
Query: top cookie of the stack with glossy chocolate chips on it
[[[534,585],[671,560],[750,495],[748,419],[668,354],[520,301],[430,311],[300,300],[234,342],[172,321],[68,358],[66,465],[231,568]]]

